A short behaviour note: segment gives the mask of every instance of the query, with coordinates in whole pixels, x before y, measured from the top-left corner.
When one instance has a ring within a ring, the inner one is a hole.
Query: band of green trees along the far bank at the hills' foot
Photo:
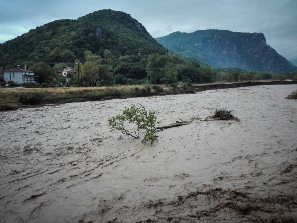
[[[59,59],[74,54],[61,51],[56,47],[48,55],[52,59]],[[24,63],[24,62],[23,62]],[[24,64],[23,64],[24,65]],[[164,52],[164,54],[114,55],[105,49],[103,56],[84,51],[82,60],[74,59],[72,63],[47,64],[26,63],[27,69],[38,76],[36,81],[42,83],[55,83],[59,86],[94,87],[112,84],[140,84],[148,78],[151,84],[171,84],[183,82],[187,84],[210,83],[215,81],[258,81],[261,79],[296,79],[296,72],[275,75],[271,72],[247,71],[236,68],[220,68],[201,65],[189,61],[180,54]],[[67,76],[61,76],[58,71],[63,67],[72,67]],[[3,69],[3,68],[2,68]]]

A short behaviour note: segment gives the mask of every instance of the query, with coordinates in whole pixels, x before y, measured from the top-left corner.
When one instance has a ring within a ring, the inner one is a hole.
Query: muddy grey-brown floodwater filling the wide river
[[[1,112],[0,222],[297,222],[297,85]],[[108,117],[140,103],[159,125],[216,109],[240,121],[141,143]],[[121,137],[123,136],[123,137]]]

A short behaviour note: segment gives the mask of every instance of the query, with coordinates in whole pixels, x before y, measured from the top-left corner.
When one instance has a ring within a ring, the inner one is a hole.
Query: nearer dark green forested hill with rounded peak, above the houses
[[[0,44],[0,67],[22,61],[83,61],[84,52],[103,57],[108,49],[116,56],[162,53],[162,47],[145,27],[129,14],[99,10],[77,20],[57,20]]]

